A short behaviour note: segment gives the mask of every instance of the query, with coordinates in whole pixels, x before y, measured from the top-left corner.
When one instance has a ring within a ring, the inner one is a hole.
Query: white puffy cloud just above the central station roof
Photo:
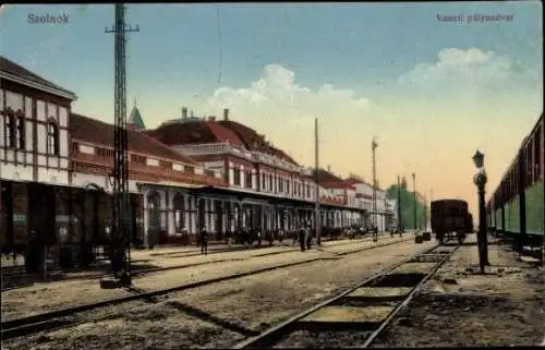
[[[231,108],[246,118],[314,118],[358,114],[370,107],[370,100],[352,89],[325,84],[317,89],[300,85],[295,73],[280,64],[265,67],[263,76],[247,87],[220,87],[208,99],[208,109]]]

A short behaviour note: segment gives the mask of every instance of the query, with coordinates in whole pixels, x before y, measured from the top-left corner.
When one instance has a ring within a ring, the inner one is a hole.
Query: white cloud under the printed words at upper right
[[[402,85],[421,85],[446,89],[492,89],[528,82],[529,70],[507,56],[477,48],[448,48],[434,63],[421,63],[400,76]],[[521,81],[522,79],[522,81]]]

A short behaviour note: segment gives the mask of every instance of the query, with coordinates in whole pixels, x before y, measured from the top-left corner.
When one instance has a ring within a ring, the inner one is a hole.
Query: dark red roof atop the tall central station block
[[[155,130],[146,131],[146,133],[171,146],[216,142],[229,142],[235,146],[244,146],[235,133],[216,121],[169,122]]]

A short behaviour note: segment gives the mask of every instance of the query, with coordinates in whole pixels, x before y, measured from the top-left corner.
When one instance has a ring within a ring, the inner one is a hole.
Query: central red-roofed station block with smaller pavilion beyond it
[[[180,119],[147,133],[223,178],[225,186],[216,190],[221,191],[222,201],[230,203],[233,210],[222,220],[227,227],[211,226],[210,231],[246,227],[292,231],[302,221],[314,226],[317,186],[313,171],[271,146],[253,129],[230,120],[228,109],[223,110],[222,120],[217,120],[215,117],[189,117],[187,109],[182,108]],[[324,206],[322,222],[330,228],[355,222],[362,215],[355,201],[330,190],[322,186],[318,191]],[[214,196],[213,193],[208,195]],[[211,213],[216,215],[216,210]],[[220,237],[222,232],[217,233]]]

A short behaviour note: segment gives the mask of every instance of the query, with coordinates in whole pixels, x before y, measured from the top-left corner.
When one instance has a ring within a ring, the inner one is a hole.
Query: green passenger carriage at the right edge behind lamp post
[[[487,203],[488,227],[499,233],[538,244],[545,231],[543,114],[522,142]]]

